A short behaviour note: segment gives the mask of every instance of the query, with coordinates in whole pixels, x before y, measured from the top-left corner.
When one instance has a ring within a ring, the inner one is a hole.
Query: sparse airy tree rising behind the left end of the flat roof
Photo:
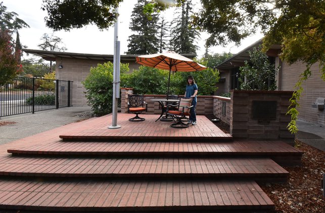
[[[42,50],[49,50],[49,51],[59,51],[59,52],[64,52],[67,50],[65,46],[59,46],[60,44],[64,45],[62,42],[62,39],[54,36],[54,34],[47,34],[44,33],[43,36],[40,38],[43,43],[38,44],[37,46],[40,47]],[[52,67],[52,60],[50,61],[50,73],[53,71]]]

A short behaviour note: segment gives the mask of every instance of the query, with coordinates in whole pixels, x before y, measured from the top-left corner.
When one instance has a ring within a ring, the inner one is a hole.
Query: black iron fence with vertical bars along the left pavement
[[[72,82],[17,77],[0,87],[0,117],[70,107]]]

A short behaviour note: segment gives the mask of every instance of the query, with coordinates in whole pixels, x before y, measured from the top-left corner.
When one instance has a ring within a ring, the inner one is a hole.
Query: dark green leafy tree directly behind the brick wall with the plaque
[[[270,63],[266,53],[260,51],[259,48],[250,51],[250,60],[245,61],[245,65],[239,68],[241,90],[273,91],[276,89],[275,74],[278,68]]]

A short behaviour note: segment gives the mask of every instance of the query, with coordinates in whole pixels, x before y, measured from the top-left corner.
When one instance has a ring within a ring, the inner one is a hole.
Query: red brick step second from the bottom
[[[0,176],[287,178],[268,158],[40,158],[2,157]]]

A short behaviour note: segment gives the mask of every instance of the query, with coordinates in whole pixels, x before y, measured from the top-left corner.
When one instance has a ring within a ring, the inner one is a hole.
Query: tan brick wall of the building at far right
[[[299,75],[305,69],[305,64],[301,62],[291,65],[283,63],[281,89],[283,91],[293,91]],[[313,105],[317,98],[325,98],[325,82],[320,79],[319,63],[313,64],[310,70],[311,76],[302,85],[304,91],[299,101],[298,119],[325,126],[325,110],[319,110]]]

